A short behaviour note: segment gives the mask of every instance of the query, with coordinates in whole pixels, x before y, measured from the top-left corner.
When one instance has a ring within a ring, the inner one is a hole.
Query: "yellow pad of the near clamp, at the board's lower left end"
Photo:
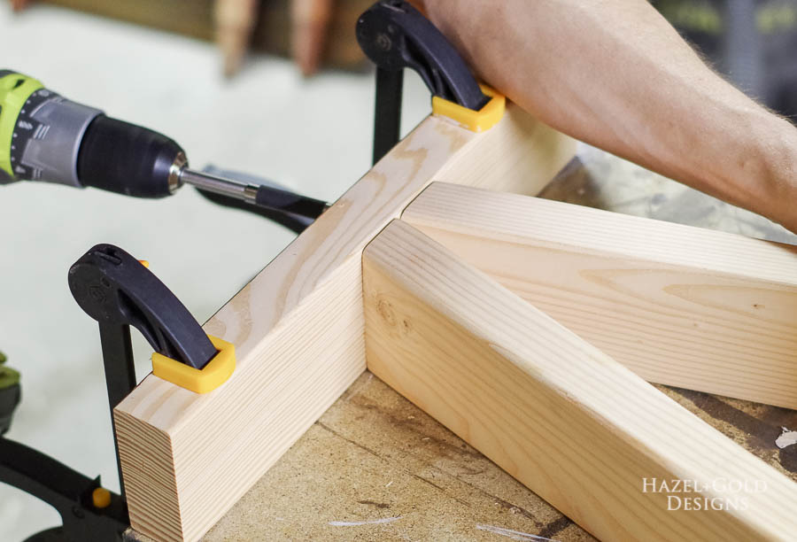
[[[219,352],[204,368],[193,368],[155,352],[152,354],[152,374],[196,393],[215,390],[227,382],[236,369],[236,345],[212,335],[207,338]]]

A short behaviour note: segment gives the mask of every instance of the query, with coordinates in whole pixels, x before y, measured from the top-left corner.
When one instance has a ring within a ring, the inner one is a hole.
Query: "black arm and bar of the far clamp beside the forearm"
[[[374,163],[399,143],[404,68],[433,96],[475,111],[490,101],[445,35],[403,0],[377,2],[360,15],[357,41],[376,65]]]

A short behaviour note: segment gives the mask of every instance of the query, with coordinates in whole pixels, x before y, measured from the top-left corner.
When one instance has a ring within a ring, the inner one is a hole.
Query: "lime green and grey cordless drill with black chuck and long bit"
[[[133,197],[165,197],[183,183],[262,208],[315,218],[327,204],[289,190],[189,169],[180,145],[112,119],[0,70],[0,184],[28,180],[93,186]]]

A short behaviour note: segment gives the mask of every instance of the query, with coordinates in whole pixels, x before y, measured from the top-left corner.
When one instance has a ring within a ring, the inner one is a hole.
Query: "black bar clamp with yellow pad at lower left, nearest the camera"
[[[156,352],[153,372],[204,393],[225,382],[235,368],[235,348],[208,337],[188,309],[145,267],[112,244],[98,244],[69,269],[78,305],[99,322],[105,383],[111,411],[135,388],[130,326]],[[5,438],[19,404],[19,373],[2,367],[0,354],[0,483],[11,484],[55,507],[62,525],[27,542],[83,542],[124,539],[130,526],[124,482],[120,494],[26,445]],[[113,416],[111,416],[113,424]],[[116,442],[117,464],[119,445]]]

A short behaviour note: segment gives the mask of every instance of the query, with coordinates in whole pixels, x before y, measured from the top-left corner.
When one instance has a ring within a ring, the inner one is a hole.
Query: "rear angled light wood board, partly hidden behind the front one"
[[[403,219],[648,381],[797,408],[797,248],[436,183]]]

